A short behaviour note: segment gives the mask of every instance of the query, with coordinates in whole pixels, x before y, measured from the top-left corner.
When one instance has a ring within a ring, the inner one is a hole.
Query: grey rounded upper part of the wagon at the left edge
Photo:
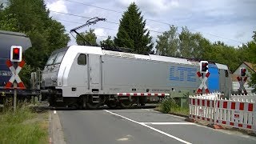
[[[25,51],[32,46],[26,34],[0,30],[0,58],[10,57],[10,46],[22,46]]]

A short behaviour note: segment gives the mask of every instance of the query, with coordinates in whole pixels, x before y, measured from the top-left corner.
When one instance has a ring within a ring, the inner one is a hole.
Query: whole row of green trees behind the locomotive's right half
[[[256,38],[255,32],[253,38]],[[255,42],[248,42],[235,49],[224,42],[211,43],[202,34],[192,33],[186,27],[182,27],[182,32],[178,34],[177,27],[170,26],[170,30],[158,35],[156,49],[160,55],[222,63],[234,72],[242,62],[256,62]]]

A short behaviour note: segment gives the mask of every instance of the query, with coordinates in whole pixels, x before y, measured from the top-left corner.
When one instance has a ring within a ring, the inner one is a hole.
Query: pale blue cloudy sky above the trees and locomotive
[[[153,42],[159,34],[170,30],[170,25],[178,26],[179,32],[187,26],[210,42],[222,41],[230,46],[251,41],[256,30],[256,0],[45,0],[50,15],[62,22],[67,33],[85,24],[88,18],[106,18],[106,22],[78,30],[93,28],[98,42],[108,35],[116,36],[119,20],[131,2],[142,11]],[[76,44],[71,35],[70,38],[69,45]]]

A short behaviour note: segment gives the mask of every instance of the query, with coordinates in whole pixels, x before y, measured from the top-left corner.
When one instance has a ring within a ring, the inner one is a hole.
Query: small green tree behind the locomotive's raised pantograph
[[[94,34],[94,29],[90,29],[89,31],[86,30],[86,32],[82,32],[80,33],[80,35],[82,36],[82,38],[80,36],[76,36],[76,42],[78,45],[80,46],[84,46],[84,45],[90,45],[90,46],[97,46],[97,37],[96,34]],[[86,39],[87,42],[84,42],[84,39]]]

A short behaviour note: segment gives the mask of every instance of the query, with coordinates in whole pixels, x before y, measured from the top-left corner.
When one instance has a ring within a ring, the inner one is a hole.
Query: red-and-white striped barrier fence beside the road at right
[[[220,99],[219,93],[208,96],[190,96],[190,118],[256,131],[256,103]]]

